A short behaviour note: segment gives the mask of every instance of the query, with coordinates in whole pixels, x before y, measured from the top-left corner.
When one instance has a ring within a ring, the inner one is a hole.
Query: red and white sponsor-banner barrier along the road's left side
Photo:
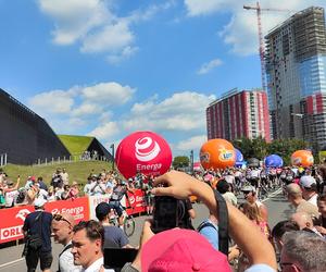
[[[127,198],[122,199],[122,205],[128,208],[126,211],[130,214],[137,214],[146,211],[145,194],[141,189],[134,194],[127,193]],[[54,213],[71,213],[76,223],[79,221],[96,220],[95,209],[100,202],[109,202],[110,195],[79,197],[68,200],[58,200],[47,202],[45,210]],[[18,240],[24,237],[22,227],[28,213],[35,211],[34,206],[17,206],[0,210],[0,244]]]

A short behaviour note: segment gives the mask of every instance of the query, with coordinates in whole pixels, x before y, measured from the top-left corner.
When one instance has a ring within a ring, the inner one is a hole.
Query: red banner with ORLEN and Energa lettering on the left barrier
[[[88,198],[48,202],[46,211],[51,213],[67,212],[74,215],[76,222],[89,219]],[[0,244],[24,237],[22,227],[28,213],[35,211],[33,206],[21,206],[0,210]]]

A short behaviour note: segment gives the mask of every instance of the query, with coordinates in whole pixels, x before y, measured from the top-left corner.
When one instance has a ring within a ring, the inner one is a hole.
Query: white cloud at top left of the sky
[[[54,21],[52,32],[57,45],[80,42],[83,53],[106,53],[110,63],[117,63],[137,52],[133,25],[151,20],[156,13],[172,8],[174,0],[149,4],[125,17],[113,12],[108,0],[38,0],[42,13]]]

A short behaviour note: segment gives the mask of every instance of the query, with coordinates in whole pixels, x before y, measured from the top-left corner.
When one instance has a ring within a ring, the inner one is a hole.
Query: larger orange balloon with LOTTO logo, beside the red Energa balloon
[[[211,139],[200,149],[200,163],[204,169],[226,169],[236,163],[234,146],[226,139]]]

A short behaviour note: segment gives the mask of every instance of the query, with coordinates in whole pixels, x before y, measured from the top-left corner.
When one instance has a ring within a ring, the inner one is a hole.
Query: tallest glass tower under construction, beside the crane
[[[273,138],[326,144],[326,32],[323,8],[296,13],[272,29],[266,72]]]

